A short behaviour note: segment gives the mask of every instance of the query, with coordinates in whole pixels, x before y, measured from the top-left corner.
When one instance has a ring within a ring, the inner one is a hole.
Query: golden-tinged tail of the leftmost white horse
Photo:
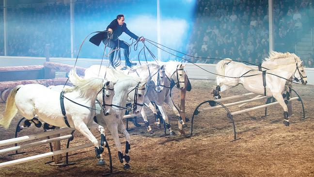
[[[16,93],[19,88],[23,85],[17,85],[9,94],[6,104],[5,104],[5,112],[3,114],[2,119],[0,119],[0,125],[2,125],[5,129],[8,129],[12,119],[17,113],[17,108],[15,104]]]

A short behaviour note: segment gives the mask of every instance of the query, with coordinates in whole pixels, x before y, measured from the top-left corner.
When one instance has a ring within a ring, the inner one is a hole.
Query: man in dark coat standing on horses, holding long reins
[[[107,31],[110,32],[110,39],[103,39],[103,43],[107,45],[107,47],[111,48],[109,60],[110,65],[115,68],[113,64],[113,57],[114,57],[114,49],[116,48],[123,48],[124,49],[124,56],[126,60],[126,66],[132,67],[136,65],[136,63],[131,63],[129,59],[129,45],[120,40],[118,37],[122,34],[122,32],[125,32],[130,37],[132,37],[135,40],[144,41],[144,37],[139,37],[135,35],[133,32],[130,32],[126,28],[126,23],[124,22],[125,18],[123,14],[119,14],[116,19],[112,20],[111,23],[107,27]],[[106,44],[107,43],[107,44]]]

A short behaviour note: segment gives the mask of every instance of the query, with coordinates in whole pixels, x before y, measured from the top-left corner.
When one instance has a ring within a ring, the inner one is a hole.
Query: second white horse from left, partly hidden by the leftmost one
[[[100,72],[99,72],[100,71]],[[99,73],[99,75],[98,75]],[[128,76],[121,71],[117,71],[108,67],[93,65],[85,70],[85,78],[97,76],[100,78],[108,78],[109,80],[117,80],[114,85],[115,95],[112,100],[112,113],[105,116],[103,112],[96,112],[96,119],[100,125],[106,125],[110,130],[112,138],[118,150],[118,157],[121,163],[124,164],[124,169],[130,168],[130,135],[126,131],[123,123],[123,115],[127,97],[131,98],[133,113],[140,113],[145,94],[145,80],[139,77]],[[98,97],[99,98],[99,97]],[[101,100],[101,98],[100,98]],[[96,107],[100,107],[96,104]],[[119,140],[118,130],[126,137],[126,155],[123,155],[121,143]],[[101,157],[102,159],[102,157]]]

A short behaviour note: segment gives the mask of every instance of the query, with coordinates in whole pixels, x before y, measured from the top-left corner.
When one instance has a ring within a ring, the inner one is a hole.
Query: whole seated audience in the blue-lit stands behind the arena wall
[[[261,62],[269,49],[267,3],[267,0],[196,0],[191,39],[181,51],[195,57]],[[46,44],[50,44],[50,56],[70,57],[69,6],[68,2],[8,6],[8,55],[45,56]],[[313,0],[274,0],[273,7],[275,50],[294,53],[296,42],[313,28]],[[114,0],[75,1],[74,55],[86,36],[86,32],[76,29],[88,28],[96,16],[102,16],[104,11],[114,13],[116,8],[119,6]],[[0,14],[0,33],[3,33],[2,8]],[[0,55],[4,54],[3,40],[0,35]],[[312,67],[313,53],[303,59],[306,66]],[[82,51],[82,57],[97,56],[98,51]],[[219,62],[185,58],[197,63]]]

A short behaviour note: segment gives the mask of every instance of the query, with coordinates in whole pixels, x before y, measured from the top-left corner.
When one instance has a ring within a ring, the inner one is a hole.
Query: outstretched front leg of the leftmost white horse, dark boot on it
[[[81,132],[83,136],[85,136],[88,140],[90,140],[93,143],[95,147],[96,157],[97,159],[100,159],[100,155],[101,153],[104,152],[104,148],[98,145],[97,139],[94,137],[92,132],[88,129],[87,125],[83,121],[81,121],[81,119],[72,117],[72,120],[73,120],[75,129]]]

